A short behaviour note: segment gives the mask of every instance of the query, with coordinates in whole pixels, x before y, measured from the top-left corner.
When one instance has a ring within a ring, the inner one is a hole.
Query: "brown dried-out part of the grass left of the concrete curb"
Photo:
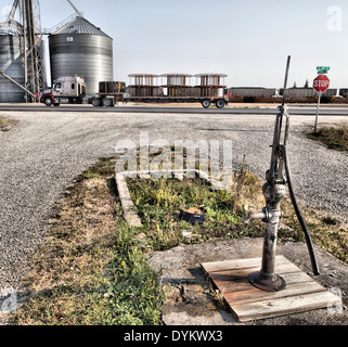
[[[36,292],[66,285],[77,277],[79,286],[93,283],[91,270],[112,258],[104,248],[115,241],[113,205],[107,182],[100,178],[82,181],[60,201],[52,233],[34,258],[36,269],[28,278]]]

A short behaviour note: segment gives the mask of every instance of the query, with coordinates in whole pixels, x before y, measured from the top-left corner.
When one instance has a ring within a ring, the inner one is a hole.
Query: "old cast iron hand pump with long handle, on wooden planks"
[[[287,60],[286,76],[283,92],[283,103],[279,107],[279,114],[275,119],[274,138],[272,145],[271,167],[266,174],[267,182],[263,187],[263,195],[267,206],[262,211],[252,213],[244,218],[247,222],[250,219],[262,219],[266,222],[263,253],[262,253],[262,268],[260,271],[249,275],[249,282],[263,291],[274,292],[285,288],[285,281],[275,274],[275,248],[278,240],[278,230],[283,213],[281,210],[281,203],[286,194],[286,184],[288,187],[289,196],[294,205],[297,218],[304,230],[306,242],[312,264],[313,273],[319,274],[319,268],[313,250],[311,237],[306,224],[306,221],[298,207],[293,184],[291,180],[291,171],[287,158],[287,144],[289,132],[289,115],[285,107],[285,94],[289,72],[291,56]],[[285,126],[284,126],[285,118]]]

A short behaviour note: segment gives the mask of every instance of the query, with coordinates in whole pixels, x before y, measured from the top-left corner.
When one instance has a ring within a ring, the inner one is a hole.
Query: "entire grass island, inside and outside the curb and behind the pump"
[[[242,223],[265,206],[262,184],[242,166],[232,192],[211,191],[204,180],[129,180],[143,227],[123,218],[114,158],[102,158],[67,188],[50,222],[52,231],[33,259],[28,296],[11,317],[17,325],[160,325],[166,294],[149,266],[155,250],[179,244],[259,237],[260,221]],[[203,224],[176,218],[180,207],[201,207]],[[281,241],[304,239],[295,213],[283,203]],[[332,217],[304,209],[313,241],[348,262],[348,232]],[[184,232],[189,233],[186,236]]]

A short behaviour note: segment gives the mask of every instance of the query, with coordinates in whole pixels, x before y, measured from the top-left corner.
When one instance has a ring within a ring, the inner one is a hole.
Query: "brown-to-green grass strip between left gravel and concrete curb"
[[[158,325],[163,293],[102,159],[72,185],[33,259],[18,325]]]

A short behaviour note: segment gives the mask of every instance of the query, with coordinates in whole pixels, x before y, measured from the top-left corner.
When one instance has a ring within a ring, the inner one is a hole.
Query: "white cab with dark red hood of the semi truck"
[[[85,79],[78,76],[60,77],[53,81],[51,89],[41,92],[40,102],[47,106],[61,104],[81,104],[86,97]]]

